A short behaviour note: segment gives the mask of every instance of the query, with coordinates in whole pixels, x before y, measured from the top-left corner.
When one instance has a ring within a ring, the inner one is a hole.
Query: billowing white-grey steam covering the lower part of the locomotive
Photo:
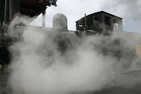
[[[141,68],[135,54],[139,44],[136,36],[132,36],[134,40],[121,33],[89,37],[84,34],[79,38],[54,29],[28,26],[29,20],[16,17],[9,28],[9,82],[13,93],[78,94],[140,82],[140,75],[115,77]],[[20,23],[24,26],[20,27]]]

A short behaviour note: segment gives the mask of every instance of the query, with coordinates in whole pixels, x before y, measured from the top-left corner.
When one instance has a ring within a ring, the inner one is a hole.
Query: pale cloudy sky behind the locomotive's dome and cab
[[[57,5],[46,10],[46,27],[52,27],[55,14],[63,13],[68,19],[68,29],[76,30],[75,22],[85,13],[103,10],[123,18],[124,31],[141,33],[141,0],[58,0]],[[32,25],[41,26],[42,15]]]

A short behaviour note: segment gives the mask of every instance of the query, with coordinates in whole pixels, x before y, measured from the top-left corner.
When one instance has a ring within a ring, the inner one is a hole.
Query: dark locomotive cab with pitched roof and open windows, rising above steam
[[[111,33],[113,31],[123,31],[122,18],[110,13],[100,11],[76,21],[76,30],[93,33]]]

